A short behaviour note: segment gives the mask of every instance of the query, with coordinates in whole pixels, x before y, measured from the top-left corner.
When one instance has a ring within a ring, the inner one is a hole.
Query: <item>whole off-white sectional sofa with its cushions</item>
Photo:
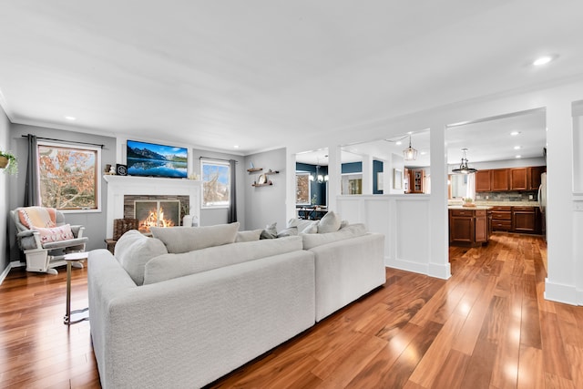
[[[158,233],[129,231],[115,257],[89,253],[104,388],[210,384],[385,282],[384,236],[363,227],[261,241],[238,241],[233,225]]]

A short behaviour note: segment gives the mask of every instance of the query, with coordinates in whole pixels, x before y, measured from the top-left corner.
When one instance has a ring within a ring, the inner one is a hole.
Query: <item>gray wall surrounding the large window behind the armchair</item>
[[[12,124],[10,127],[10,136],[12,143],[15,145],[13,149],[18,156],[19,174],[15,186],[15,191],[11,192],[9,209],[14,210],[16,207],[22,207],[25,200],[25,180],[26,180],[26,159],[28,158],[28,150],[26,138],[22,135],[34,134],[37,137],[56,138],[68,141],[79,141],[88,143],[97,143],[105,145],[101,150],[101,169],[103,172],[107,163],[115,164],[116,161],[116,138],[101,137],[98,135],[84,134],[80,132],[64,131],[55,128],[44,128],[35,126],[26,126],[21,124]],[[84,225],[85,235],[89,238],[87,243],[87,250],[103,249],[105,248],[104,239],[106,238],[106,210],[107,210],[107,185],[101,179],[101,212],[87,212],[87,213],[66,213],[65,219],[70,224]],[[15,244],[15,227],[9,223],[9,237],[10,237],[10,259],[11,261],[20,260],[20,251]]]

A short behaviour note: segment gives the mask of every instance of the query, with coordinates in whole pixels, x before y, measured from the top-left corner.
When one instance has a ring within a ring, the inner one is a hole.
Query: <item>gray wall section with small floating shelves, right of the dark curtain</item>
[[[248,173],[245,170],[245,220],[246,230],[264,229],[267,224],[277,222],[277,230],[286,227],[285,216],[285,192],[288,173],[285,171],[286,149],[266,151],[258,154],[251,154],[245,157],[245,169],[250,168],[250,163],[255,168],[263,168],[261,172]],[[257,180],[261,173],[269,169],[279,170],[280,174],[268,176],[273,185],[265,187],[252,187],[253,181]],[[295,172],[291,172],[295,175]]]

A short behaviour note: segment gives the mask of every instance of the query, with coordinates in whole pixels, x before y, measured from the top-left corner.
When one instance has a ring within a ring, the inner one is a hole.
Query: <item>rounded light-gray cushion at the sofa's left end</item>
[[[137,285],[144,283],[144,267],[154,257],[168,254],[166,246],[156,238],[148,238],[138,230],[128,230],[119,238],[114,249],[121,267]]]

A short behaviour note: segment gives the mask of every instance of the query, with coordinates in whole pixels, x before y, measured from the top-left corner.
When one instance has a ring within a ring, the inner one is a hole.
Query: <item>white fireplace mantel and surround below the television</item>
[[[124,217],[126,195],[189,196],[190,215],[196,215],[200,222],[201,181],[114,175],[105,175],[103,179],[107,182],[107,238],[113,236],[113,220]]]

